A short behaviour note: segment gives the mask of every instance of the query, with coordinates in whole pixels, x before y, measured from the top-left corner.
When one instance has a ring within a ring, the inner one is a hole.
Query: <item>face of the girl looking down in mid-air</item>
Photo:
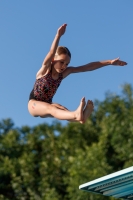
[[[56,55],[53,60],[54,69],[62,73],[70,63],[70,57],[67,54]]]

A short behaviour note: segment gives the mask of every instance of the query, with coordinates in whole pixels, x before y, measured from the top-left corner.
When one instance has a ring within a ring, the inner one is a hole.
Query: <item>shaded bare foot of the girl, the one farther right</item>
[[[83,123],[85,123],[88,117],[90,117],[91,113],[93,112],[93,109],[94,109],[93,102],[91,100],[88,100],[83,112]]]

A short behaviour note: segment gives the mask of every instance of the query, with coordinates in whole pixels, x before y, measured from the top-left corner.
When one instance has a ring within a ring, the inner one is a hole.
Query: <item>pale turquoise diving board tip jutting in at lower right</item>
[[[80,190],[133,200],[133,166],[79,186]]]

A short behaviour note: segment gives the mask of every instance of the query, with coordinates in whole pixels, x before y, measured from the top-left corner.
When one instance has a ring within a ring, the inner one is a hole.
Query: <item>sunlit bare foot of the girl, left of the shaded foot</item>
[[[85,97],[83,97],[80,101],[80,105],[75,111],[75,121],[82,121],[83,120],[83,109],[85,106]]]

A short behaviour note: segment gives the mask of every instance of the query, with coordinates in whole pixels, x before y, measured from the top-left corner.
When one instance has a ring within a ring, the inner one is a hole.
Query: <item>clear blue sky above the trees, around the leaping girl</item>
[[[83,96],[102,101],[107,91],[120,94],[121,85],[133,85],[132,20],[131,0],[1,0],[0,120],[11,118],[18,127],[53,122],[32,117],[27,102],[36,72],[63,23],[68,26],[60,45],[70,49],[71,66],[117,57],[128,65],[70,75],[54,102],[75,110]]]

